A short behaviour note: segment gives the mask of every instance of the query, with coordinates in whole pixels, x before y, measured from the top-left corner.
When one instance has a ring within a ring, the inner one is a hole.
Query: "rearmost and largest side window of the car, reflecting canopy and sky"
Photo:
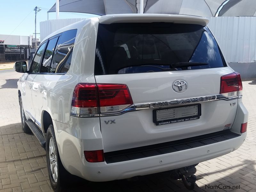
[[[73,50],[73,46],[76,39],[76,32],[77,32],[77,29],[72,29],[72,30],[64,31],[60,36],[52,56],[50,73],[65,73],[65,72],[62,72],[62,70],[60,69],[64,68],[63,66],[65,61],[68,61],[68,60],[71,61],[72,54],[70,53]]]

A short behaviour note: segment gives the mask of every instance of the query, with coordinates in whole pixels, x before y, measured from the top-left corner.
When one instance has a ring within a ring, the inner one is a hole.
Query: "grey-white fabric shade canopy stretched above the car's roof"
[[[144,13],[203,17],[255,16],[255,0],[144,0]],[[140,0],[59,0],[60,12],[96,15],[140,13]],[[56,12],[54,4],[48,12]]]

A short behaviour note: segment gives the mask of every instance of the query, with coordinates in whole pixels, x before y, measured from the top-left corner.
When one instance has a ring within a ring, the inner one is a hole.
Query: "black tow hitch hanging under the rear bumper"
[[[171,178],[174,180],[181,179],[188,190],[193,190],[196,184],[196,175],[194,175],[196,173],[196,165],[198,164],[173,170],[171,172]]]

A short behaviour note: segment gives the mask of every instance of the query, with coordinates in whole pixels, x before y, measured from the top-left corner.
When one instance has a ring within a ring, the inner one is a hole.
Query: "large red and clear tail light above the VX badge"
[[[125,84],[79,83],[73,93],[71,115],[119,112],[132,104],[131,94]]]

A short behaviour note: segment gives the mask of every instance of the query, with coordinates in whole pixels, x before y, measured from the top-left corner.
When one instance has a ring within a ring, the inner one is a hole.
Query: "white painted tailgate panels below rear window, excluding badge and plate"
[[[159,72],[154,75],[147,73],[95,77],[97,83],[126,84],[133,103],[137,104],[219,94],[220,76],[228,73],[232,73],[232,70],[226,67],[189,72]],[[172,89],[172,83],[180,77],[188,84],[185,92],[175,92]],[[237,103],[237,100],[232,100],[234,102]],[[136,110],[116,116],[100,116],[104,151],[180,140],[231,128],[237,107],[231,107],[230,103],[231,101],[226,100],[200,102],[199,119],[158,126],[153,122],[153,110],[159,108]],[[109,120],[115,120],[115,123],[106,124]]]

